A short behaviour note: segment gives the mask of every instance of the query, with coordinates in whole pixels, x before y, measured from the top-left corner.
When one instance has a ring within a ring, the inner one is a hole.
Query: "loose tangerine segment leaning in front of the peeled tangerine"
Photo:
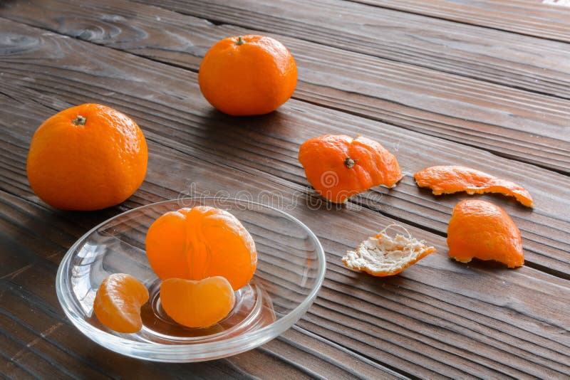
[[[172,320],[186,327],[210,327],[232,310],[235,295],[220,276],[199,281],[169,278],[160,285],[160,303]]]

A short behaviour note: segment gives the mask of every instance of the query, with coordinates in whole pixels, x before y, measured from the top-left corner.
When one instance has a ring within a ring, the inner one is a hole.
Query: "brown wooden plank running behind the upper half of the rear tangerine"
[[[153,6],[136,10],[130,1],[100,1],[88,12],[75,1],[19,1],[0,16],[191,70],[215,41],[252,32]],[[569,100],[275,37],[299,65],[300,100],[570,173]]]

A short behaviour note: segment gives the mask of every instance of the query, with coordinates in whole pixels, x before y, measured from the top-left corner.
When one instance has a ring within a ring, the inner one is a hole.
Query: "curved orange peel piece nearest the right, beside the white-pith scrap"
[[[462,263],[472,258],[497,260],[516,268],[524,264],[519,228],[499,206],[466,199],[453,209],[447,226],[450,257]]]

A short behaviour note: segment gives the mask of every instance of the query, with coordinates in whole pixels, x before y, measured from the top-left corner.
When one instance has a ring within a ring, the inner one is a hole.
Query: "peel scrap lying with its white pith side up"
[[[385,231],[392,226],[398,225],[384,228],[378,235],[363,241],[356,250],[349,250],[342,259],[344,265],[363,270],[370,275],[384,277],[398,274],[435,252],[435,248],[426,246],[425,241],[413,238],[410,233],[408,236],[396,234],[391,238]]]

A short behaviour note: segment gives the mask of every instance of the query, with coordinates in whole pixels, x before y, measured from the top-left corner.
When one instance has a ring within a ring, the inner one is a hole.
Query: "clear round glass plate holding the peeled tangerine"
[[[237,290],[232,312],[206,329],[180,326],[165,314],[158,297],[160,279],[145,253],[145,236],[156,218],[197,205],[234,214],[252,234],[258,253],[254,278]],[[251,201],[187,198],[142,206],[93,228],[61,261],[56,290],[71,322],[103,347],[138,359],[204,361],[258,347],[291,327],[314,301],[325,268],[321,243],[288,213]],[[140,332],[114,332],[93,315],[95,292],[110,273],[128,273],[148,288]]]

